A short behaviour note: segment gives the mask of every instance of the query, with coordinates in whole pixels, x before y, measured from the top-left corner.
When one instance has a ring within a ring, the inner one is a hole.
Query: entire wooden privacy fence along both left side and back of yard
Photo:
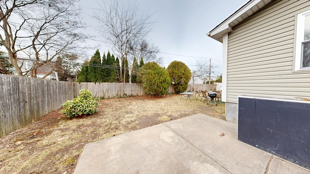
[[[216,85],[188,84],[186,91],[215,89]],[[134,83],[61,82],[0,74],[0,137],[62,107],[62,103],[89,89],[95,97],[140,96],[145,89]],[[175,93],[173,86],[168,93]]]

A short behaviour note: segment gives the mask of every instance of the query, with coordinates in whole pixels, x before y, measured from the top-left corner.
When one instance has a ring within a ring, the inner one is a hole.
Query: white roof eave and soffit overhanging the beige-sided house
[[[235,13],[230,15],[217,27],[212,29],[206,35],[223,43],[223,35],[233,31],[233,27],[248,18],[250,15],[262,9],[273,0],[250,0]]]

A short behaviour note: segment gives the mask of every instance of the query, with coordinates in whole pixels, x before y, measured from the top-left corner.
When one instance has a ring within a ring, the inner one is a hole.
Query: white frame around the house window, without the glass
[[[302,68],[302,42],[304,42],[305,16],[310,15],[310,10],[297,14],[296,41],[295,41],[295,71],[310,70],[310,67]]]

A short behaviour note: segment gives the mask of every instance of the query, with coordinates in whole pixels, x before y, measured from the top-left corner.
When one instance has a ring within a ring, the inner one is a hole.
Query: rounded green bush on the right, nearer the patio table
[[[171,82],[176,93],[185,92],[191,78],[190,69],[185,63],[174,60],[167,67]]]

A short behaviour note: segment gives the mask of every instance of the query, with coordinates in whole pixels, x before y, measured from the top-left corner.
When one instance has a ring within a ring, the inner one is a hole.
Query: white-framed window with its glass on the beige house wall
[[[310,10],[297,15],[295,70],[310,69]]]

